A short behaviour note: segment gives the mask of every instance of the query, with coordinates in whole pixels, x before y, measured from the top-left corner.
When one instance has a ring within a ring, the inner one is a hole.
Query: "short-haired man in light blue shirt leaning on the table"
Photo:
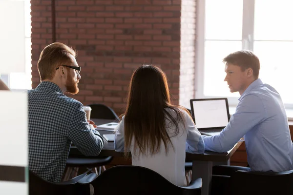
[[[239,92],[239,104],[230,122],[217,136],[203,137],[207,150],[227,152],[245,139],[252,171],[293,169],[293,143],[282,99],[259,78],[259,60],[250,51],[228,55],[225,72],[230,92]]]

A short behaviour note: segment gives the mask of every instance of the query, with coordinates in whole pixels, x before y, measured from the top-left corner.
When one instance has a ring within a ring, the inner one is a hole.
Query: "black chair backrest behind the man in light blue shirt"
[[[232,195],[293,195],[293,170],[286,172],[236,171]]]

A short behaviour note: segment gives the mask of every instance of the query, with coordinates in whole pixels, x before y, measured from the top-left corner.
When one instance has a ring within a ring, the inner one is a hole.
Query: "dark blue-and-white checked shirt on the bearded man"
[[[52,82],[28,91],[28,119],[29,169],[48,181],[61,181],[71,142],[85,156],[99,155],[104,146],[90,129],[83,104]]]

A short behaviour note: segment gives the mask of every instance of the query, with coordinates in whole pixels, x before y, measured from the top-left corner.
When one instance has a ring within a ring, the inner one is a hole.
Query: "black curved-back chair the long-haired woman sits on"
[[[160,174],[139,166],[115,166],[100,176],[90,174],[78,181],[94,187],[95,195],[200,195],[202,179],[197,178],[187,187],[169,182]]]

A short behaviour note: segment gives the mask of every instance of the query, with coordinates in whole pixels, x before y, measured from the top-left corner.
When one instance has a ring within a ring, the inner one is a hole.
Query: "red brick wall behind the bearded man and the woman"
[[[185,7],[192,1],[182,0]],[[52,42],[50,3],[31,0],[33,88],[40,82],[40,52]],[[181,0],[56,0],[56,41],[76,48],[82,66],[80,93],[74,98],[84,105],[105,103],[121,114],[131,74],[146,63],[165,71],[173,103],[181,97],[186,103],[194,88],[193,49],[188,43],[194,29],[187,32],[186,24],[181,24]]]

